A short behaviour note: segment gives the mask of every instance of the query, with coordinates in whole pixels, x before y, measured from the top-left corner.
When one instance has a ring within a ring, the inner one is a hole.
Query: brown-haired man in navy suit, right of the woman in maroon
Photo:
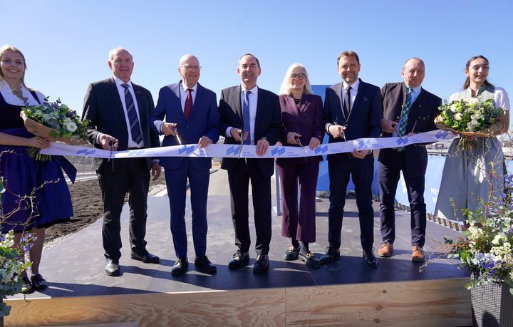
[[[377,86],[365,83],[358,78],[360,72],[358,54],[353,51],[341,53],[337,58],[337,71],[343,81],[326,88],[324,99],[324,124],[329,142],[378,137],[381,133],[380,118],[383,113],[380,90]],[[321,256],[321,264],[328,264],[340,256],[343,209],[351,174],[360,218],[363,259],[368,266],[378,266],[378,261],[373,254],[374,210],[371,191],[373,170],[374,158],[370,150],[353,150],[351,153],[328,155],[329,245],[326,253]]]

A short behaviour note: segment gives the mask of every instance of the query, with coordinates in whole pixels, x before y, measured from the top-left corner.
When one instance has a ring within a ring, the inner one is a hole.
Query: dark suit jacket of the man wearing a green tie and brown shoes
[[[397,121],[400,118],[401,110],[405,102],[405,89],[403,83],[387,83],[381,88],[383,96],[383,118]],[[408,113],[408,122],[406,123],[406,134],[424,133],[430,130],[436,130],[435,118],[440,113],[438,107],[442,105],[442,99],[436,95],[427,92],[423,88],[415,99]],[[392,134],[383,133],[383,137],[390,137]],[[387,160],[390,149],[380,150],[378,160],[384,165],[393,167],[394,160]],[[408,145],[405,147],[406,170],[410,176],[424,176],[427,167],[427,151],[425,145]],[[392,166],[390,166],[392,165]]]

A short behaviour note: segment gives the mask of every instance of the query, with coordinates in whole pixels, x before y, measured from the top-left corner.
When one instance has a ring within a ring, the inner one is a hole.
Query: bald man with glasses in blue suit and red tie
[[[182,81],[160,89],[155,113],[150,127],[156,133],[166,135],[162,146],[180,145],[178,141],[208,147],[219,140],[219,110],[214,92],[199,85],[199,61],[195,56],[180,58],[178,73]],[[165,122],[162,120],[165,116]],[[187,180],[190,183],[192,207],[192,238],[196,252],[195,266],[202,271],[215,272],[205,252],[207,251],[207,195],[209,157],[161,157],[165,168],[167,196],[171,210],[171,234],[177,261],[171,274],[183,274],[187,270],[187,231],[185,230],[185,199]]]

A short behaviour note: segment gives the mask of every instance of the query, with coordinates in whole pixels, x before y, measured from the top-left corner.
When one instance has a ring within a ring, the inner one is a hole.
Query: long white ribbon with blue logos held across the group
[[[309,147],[287,147],[270,146],[264,155],[257,155],[255,145],[244,145],[240,157],[244,158],[290,158],[290,157],[313,157],[316,155],[334,155],[353,150],[375,150],[390,147],[405,147],[406,145],[418,143],[439,142],[452,140],[457,137],[445,130],[432,130],[426,133],[419,133],[403,137],[375,137],[359,138],[347,142],[334,142],[321,144],[315,150]],[[50,147],[41,149],[43,155],[66,155],[70,157],[98,157],[108,159],[130,158],[130,157],[239,157],[241,146],[238,144],[212,144],[205,148],[199,148],[197,144],[174,145],[170,147],[151,147],[139,150],[115,151],[111,155],[108,150],[100,150],[93,147],[67,145],[61,142],[51,142]],[[306,152],[304,151],[306,150]]]

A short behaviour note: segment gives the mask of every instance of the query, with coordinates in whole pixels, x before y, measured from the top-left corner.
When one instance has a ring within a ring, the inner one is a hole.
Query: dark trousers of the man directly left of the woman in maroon
[[[271,242],[271,177],[261,174],[258,160],[240,159],[238,165],[228,171],[235,245],[242,252],[249,251],[251,245],[248,209],[251,180],[257,255],[269,254]]]

